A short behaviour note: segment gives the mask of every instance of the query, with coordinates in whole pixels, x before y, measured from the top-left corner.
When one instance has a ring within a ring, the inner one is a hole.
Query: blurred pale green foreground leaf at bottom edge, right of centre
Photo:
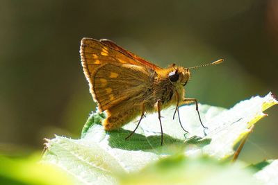
[[[120,184],[259,184],[252,171],[208,157],[186,158],[177,155],[161,159],[136,173],[120,176]]]

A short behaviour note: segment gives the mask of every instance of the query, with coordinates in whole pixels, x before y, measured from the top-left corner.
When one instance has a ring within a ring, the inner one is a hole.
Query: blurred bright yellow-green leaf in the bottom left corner
[[[72,184],[72,179],[56,166],[39,163],[38,157],[10,159],[0,156],[0,184],[60,185]]]

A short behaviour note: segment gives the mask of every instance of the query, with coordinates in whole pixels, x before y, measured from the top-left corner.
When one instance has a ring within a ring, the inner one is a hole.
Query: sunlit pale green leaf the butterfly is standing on
[[[93,113],[83,127],[81,139],[56,136],[49,140],[44,161],[66,170],[76,184],[115,184],[118,173],[136,172],[168,155],[203,154],[226,159],[234,154],[234,146],[250,132],[250,127],[265,116],[263,111],[275,104],[275,98],[268,94],[244,100],[231,109],[199,105],[208,130],[200,125],[195,105],[179,107],[181,123],[190,134],[181,129],[177,116],[172,120],[174,107],[163,109],[163,147],[157,114],[143,118],[136,133],[125,140],[136,127],[136,120],[120,130],[106,132],[101,125],[105,115]]]

